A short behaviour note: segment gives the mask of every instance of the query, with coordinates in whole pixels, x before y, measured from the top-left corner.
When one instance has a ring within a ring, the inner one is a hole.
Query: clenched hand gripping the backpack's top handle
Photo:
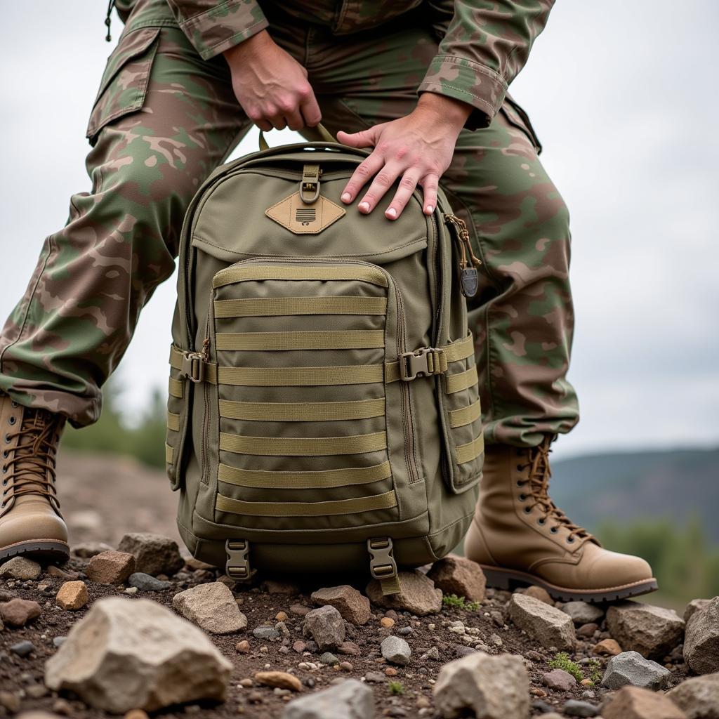
[[[307,70],[262,30],[222,53],[232,89],[257,127],[299,130],[322,119]]]

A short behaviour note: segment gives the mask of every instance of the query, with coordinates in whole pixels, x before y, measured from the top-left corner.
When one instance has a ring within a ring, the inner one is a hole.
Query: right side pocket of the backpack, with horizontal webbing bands
[[[456,347],[457,349],[452,349]],[[447,372],[440,380],[443,387],[443,421],[448,465],[449,489],[462,493],[482,477],[485,443],[482,434],[479,378],[472,334],[461,342],[449,344]]]

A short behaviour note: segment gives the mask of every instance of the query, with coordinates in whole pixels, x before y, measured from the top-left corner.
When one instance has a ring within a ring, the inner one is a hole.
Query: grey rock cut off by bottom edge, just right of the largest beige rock
[[[380,675],[381,676],[381,675]],[[384,681],[384,677],[383,677]],[[372,719],[375,700],[370,687],[345,679],[329,689],[290,702],[283,719]]]

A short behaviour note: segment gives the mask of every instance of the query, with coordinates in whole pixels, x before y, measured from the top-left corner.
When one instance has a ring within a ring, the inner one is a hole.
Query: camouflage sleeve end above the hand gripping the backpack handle
[[[203,60],[267,27],[256,0],[168,0],[180,28]]]

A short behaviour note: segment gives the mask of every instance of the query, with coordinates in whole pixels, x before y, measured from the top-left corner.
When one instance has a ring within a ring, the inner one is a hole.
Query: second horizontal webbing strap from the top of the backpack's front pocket
[[[215,317],[272,317],[280,315],[348,314],[383,315],[384,297],[339,295],[334,297],[251,297],[215,300]]]

